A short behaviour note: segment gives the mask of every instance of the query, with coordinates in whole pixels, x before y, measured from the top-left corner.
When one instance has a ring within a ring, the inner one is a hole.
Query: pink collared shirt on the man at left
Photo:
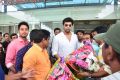
[[[22,38],[19,37],[8,45],[5,60],[7,68],[15,65],[17,52],[27,44],[28,40],[24,41]]]

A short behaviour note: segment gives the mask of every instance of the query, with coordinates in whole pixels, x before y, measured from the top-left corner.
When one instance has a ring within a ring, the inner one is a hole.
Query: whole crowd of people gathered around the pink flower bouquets
[[[58,59],[65,59],[76,49],[90,41],[100,64],[97,72],[75,72],[78,79],[120,80],[119,24],[109,29],[98,26],[91,33],[83,30],[72,32],[74,20],[63,20],[63,31],[54,29],[54,36],[45,29],[33,29],[30,41],[27,22],[18,24],[18,34],[0,32],[0,80],[46,80],[50,69]]]

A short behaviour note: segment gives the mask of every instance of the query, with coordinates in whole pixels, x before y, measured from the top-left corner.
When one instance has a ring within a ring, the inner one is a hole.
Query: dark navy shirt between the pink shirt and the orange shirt
[[[31,42],[28,45],[24,46],[17,52],[15,69],[16,71],[22,71],[23,57],[25,53],[32,47]]]

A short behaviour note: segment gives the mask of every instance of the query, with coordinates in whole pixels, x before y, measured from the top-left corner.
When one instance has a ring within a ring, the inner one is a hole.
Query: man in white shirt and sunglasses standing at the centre
[[[66,58],[70,53],[77,49],[77,36],[71,32],[73,19],[70,17],[63,20],[63,32],[56,35],[52,43],[52,54],[59,58]]]

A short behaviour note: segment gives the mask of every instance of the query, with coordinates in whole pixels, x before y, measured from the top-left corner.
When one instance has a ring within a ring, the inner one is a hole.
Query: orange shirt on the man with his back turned
[[[35,71],[34,80],[46,80],[50,68],[47,50],[33,44],[24,56],[22,71],[33,69]]]

